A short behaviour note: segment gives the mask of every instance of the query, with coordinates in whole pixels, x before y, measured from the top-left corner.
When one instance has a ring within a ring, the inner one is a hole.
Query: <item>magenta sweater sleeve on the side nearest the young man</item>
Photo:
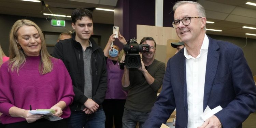
[[[55,62],[54,66],[57,68],[57,74],[58,76],[58,83],[59,83],[59,101],[64,101],[66,103],[66,106],[70,105],[73,102],[74,98],[74,92],[73,92],[73,86],[72,86],[72,80],[68,73],[68,70],[66,69],[64,63],[57,59],[57,62]]]

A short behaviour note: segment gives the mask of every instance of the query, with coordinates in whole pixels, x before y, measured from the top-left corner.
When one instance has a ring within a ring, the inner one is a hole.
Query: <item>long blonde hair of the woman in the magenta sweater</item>
[[[48,72],[51,72],[53,69],[53,63],[50,59],[51,56],[49,55],[46,49],[46,43],[44,40],[43,32],[37,26],[37,24],[27,19],[17,20],[12,26],[12,29],[10,31],[9,69],[11,68],[11,71],[16,70],[18,73],[21,66],[24,65],[26,62],[26,54],[24,53],[23,49],[20,48],[20,45],[18,44],[18,42],[16,42],[16,39],[18,37],[17,31],[19,30],[20,27],[23,27],[23,26],[33,26],[37,29],[39,33],[39,37],[41,39],[41,50],[40,50],[41,62],[39,63],[40,74],[46,74]]]

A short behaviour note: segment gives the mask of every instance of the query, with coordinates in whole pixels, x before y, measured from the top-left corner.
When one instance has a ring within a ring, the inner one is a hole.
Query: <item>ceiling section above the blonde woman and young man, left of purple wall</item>
[[[53,14],[69,15],[75,8],[104,8],[114,9],[117,0],[42,0],[49,5]],[[51,13],[43,2],[28,2],[19,0],[0,0],[0,14],[54,18],[43,15]],[[57,17],[58,19],[71,20],[71,18]],[[93,20],[95,23],[114,24],[114,12],[94,10]]]

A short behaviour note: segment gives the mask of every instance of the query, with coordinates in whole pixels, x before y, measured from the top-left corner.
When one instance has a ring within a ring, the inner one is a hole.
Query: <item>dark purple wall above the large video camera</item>
[[[118,0],[114,26],[129,40],[137,38],[137,25],[155,25],[155,0]]]

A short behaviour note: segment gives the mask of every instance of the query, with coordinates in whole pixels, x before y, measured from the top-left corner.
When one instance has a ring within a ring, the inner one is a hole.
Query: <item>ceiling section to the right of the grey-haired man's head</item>
[[[256,3],[256,0],[198,0],[203,5],[207,21],[215,22],[207,24],[208,29],[223,30],[222,32],[207,31],[208,34],[225,35],[231,37],[253,38],[255,29],[242,28],[243,26],[256,28],[256,6],[245,4]]]

